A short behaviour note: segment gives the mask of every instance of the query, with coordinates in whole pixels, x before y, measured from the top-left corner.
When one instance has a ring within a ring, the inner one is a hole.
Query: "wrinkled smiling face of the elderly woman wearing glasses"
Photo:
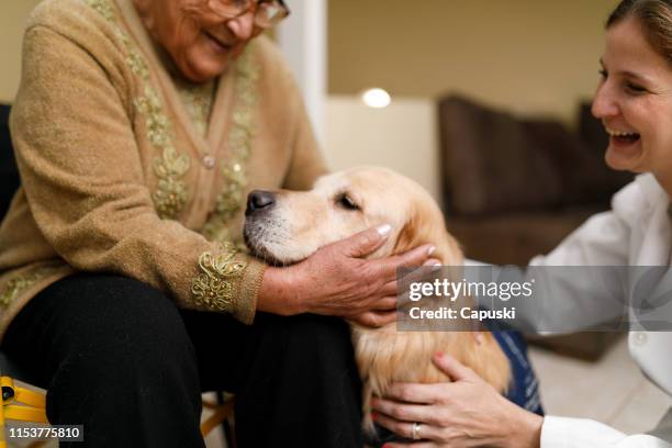
[[[220,76],[255,35],[254,14],[217,15],[217,0],[134,0],[145,27],[181,74],[205,82]]]

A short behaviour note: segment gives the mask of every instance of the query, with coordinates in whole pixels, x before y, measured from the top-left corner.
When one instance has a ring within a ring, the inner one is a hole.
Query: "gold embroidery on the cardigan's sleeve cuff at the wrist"
[[[191,292],[197,305],[231,312],[235,302],[232,280],[243,275],[247,264],[234,259],[237,250],[232,243],[222,243],[221,249],[217,256],[206,251],[199,257],[202,272],[193,279]]]

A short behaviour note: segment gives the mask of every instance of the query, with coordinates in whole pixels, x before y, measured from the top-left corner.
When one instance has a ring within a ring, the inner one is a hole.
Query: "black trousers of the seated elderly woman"
[[[236,394],[238,446],[358,447],[361,392],[338,318],[258,313],[246,326],[158,290],[80,273],[34,298],[2,349],[38,374],[52,424],[85,447],[203,447],[201,392]]]

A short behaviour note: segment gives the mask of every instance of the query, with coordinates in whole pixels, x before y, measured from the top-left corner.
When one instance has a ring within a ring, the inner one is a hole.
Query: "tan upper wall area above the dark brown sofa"
[[[617,2],[333,0],[328,92],[459,91],[572,123],[578,102],[592,98],[597,86],[604,22]]]

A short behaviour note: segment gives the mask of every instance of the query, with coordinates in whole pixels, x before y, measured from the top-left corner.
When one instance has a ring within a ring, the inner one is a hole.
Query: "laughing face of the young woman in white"
[[[606,32],[593,114],[609,134],[606,163],[672,180],[672,66],[626,19]]]

